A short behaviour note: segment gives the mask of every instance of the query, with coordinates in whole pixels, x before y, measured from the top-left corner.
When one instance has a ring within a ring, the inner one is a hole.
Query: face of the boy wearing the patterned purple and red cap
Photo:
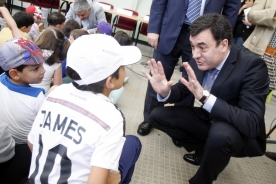
[[[20,80],[17,81],[22,85],[39,84],[44,77],[45,69],[43,64],[26,66],[22,72],[18,72]]]

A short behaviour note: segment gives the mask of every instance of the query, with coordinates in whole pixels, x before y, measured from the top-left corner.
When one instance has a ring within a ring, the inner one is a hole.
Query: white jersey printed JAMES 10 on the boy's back
[[[118,170],[123,117],[103,94],[63,84],[46,98],[28,139],[34,183],[86,183],[91,166]]]

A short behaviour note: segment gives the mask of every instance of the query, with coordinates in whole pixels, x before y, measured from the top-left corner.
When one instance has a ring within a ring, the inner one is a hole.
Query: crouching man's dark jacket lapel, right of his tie
[[[238,56],[237,46],[231,45],[229,56],[226,59],[224,65],[222,66],[211,89],[211,93],[214,94],[215,96],[219,92],[224,81],[228,78],[231,71],[234,69],[237,56]]]

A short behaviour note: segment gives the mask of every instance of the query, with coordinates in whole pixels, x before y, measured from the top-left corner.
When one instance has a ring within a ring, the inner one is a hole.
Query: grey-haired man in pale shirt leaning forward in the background
[[[89,34],[95,33],[98,23],[106,22],[104,10],[97,2],[75,0],[66,14],[66,21],[77,21]]]

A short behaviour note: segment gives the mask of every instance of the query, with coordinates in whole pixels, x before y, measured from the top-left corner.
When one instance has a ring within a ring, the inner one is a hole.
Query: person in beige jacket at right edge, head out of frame
[[[276,90],[276,1],[257,0],[252,6],[248,20],[256,27],[244,46],[263,57],[268,66],[269,89]],[[276,161],[276,153],[266,152]]]

